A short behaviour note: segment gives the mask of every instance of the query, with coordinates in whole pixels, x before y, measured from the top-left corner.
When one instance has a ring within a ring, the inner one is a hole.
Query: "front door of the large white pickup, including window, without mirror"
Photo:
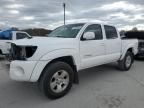
[[[105,56],[105,42],[103,39],[101,25],[89,25],[84,30],[84,33],[90,31],[95,33],[95,39],[82,40],[82,35],[80,40],[80,57],[82,68],[93,67],[103,63],[103,57]]]

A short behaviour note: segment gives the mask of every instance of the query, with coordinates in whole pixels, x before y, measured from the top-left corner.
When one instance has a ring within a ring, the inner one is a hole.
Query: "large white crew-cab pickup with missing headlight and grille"
[[[11,79],[38,82],[44,94],[55,99],[79,82],[82,69],[117,62],[128,71],[138,40],[121,40],[114,26],[77,23],[58,27],[48,37],[12,42],[11,47]]]

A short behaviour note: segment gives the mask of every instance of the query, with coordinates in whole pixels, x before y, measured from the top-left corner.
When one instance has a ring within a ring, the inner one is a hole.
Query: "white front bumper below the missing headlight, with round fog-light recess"
[[[29,81],[37,61],[12,61],[10,64],[10,78],[16,81]]]

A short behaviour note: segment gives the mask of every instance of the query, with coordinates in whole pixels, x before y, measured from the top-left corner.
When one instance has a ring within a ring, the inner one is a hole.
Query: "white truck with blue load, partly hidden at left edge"
[[[10,45],[8,42],[13,40],[30,38],[31,36],[22,31],[1,31],[0,32],[0,54],[7,55],[9,53]]]

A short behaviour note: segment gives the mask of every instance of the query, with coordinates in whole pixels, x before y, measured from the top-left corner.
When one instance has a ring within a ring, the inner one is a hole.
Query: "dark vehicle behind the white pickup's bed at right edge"
[[[123,39],[138,39],[138,53],[136,58],[144,57],[144,32],[143,31],[128,31],[122,36]]]

